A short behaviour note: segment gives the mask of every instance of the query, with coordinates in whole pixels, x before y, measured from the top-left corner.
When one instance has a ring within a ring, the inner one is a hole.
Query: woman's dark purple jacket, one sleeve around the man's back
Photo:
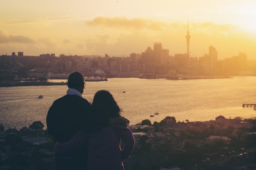
[[[120,138],[125,143],[121,150]],[[79,131],[67,142],[56,142],[54,152],[69,152],[85,145],[88,141],[87,169],[123,170],[123,160],[129,158],[135,145],[135,140],[129,128],[120,124],[103,127],[96,133]]]

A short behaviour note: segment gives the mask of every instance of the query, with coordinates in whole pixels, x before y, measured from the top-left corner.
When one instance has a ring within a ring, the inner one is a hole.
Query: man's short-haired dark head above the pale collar
[[[80,72],[73,72],[68,78],[68,87],[78,90],[81,94],[84,92],[84,77]]]

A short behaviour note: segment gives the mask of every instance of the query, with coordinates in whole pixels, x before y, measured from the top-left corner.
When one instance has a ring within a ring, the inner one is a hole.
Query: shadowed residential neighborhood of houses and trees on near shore
[[[0,127],[0,170],[55,169],[54,142],[40,121],[20,130]],[[256,118],[176,122],[167,116],[129,128],[136,145],[126,170],[256,168]]]

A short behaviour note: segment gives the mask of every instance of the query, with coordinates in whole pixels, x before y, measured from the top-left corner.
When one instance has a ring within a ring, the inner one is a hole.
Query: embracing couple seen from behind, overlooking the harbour
[[[49,108],[46,123],[53,136],[56,169],[124,170],[123,160],[135,140],[109,91],[97,91],[92,104],[82,97],[85,82],[79,72],[68,78],[67,95]],[[120,139],[124,148],[120,147]]]

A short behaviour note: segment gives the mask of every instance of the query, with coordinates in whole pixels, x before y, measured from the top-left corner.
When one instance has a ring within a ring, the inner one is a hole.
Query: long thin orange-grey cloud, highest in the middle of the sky
[[[89,26],[99,26],[106,28],[123,28],[123,29],[149,29],[161,30],[168,27],[164,22],[158,22],[149,19],[133,18],[127,19],[125,17],[96,17],[93,20],[86,22]]]

